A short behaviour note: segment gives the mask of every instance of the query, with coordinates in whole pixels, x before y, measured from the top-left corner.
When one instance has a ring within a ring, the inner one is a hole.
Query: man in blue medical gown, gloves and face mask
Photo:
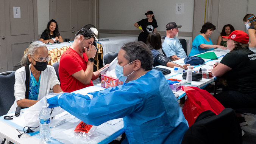
[[[123,118],[122,144],[180,144],[188,124],[164,75],[152,70],[148,46],[126,43],[117,60],[116,75],[123,85],[85,96],[57,95],[47,99],[49,107],[60,106],[91,125]]]

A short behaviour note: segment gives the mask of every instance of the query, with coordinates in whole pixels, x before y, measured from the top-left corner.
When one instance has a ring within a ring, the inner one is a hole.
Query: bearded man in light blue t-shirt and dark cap
[[[177,38],[178,28],[181,28],[181,25],[176,25],[175,22],[170,22],[165,26],[166,37],[162,47],[166,56],[172,61],[187,57],[180,40]]]

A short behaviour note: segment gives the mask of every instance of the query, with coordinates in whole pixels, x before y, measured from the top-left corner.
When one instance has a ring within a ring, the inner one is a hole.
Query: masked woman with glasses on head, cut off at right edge
[[[247,14],[243,21],[251,41],[251,43],[249,43],[249,49],[256,53],[256,17],[254,14]]]

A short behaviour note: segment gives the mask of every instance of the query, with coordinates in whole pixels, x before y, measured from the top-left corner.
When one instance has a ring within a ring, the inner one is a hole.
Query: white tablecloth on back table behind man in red
[[[106,40],[109,39],[109,40]],[[106,40],[106,41],[101,41]],[[106,53],[109,52],[119,52],[122,45],[124,43],[128,42],[134,42],[137,41],[138,37],[126,37],[126,36],[120,36],[120,37],[105,37],[99,39],[101,45],[103,46],[103,56],[105,56]]]

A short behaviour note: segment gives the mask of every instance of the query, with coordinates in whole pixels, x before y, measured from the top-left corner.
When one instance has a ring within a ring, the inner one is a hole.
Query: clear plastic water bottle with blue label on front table
[[[44,105],[42,110],[39,114],[39,121],[40,121],[40,139],[42,141],[48,141],[51,137],[50,132],[50,113],[47,110],[47,107]]]

